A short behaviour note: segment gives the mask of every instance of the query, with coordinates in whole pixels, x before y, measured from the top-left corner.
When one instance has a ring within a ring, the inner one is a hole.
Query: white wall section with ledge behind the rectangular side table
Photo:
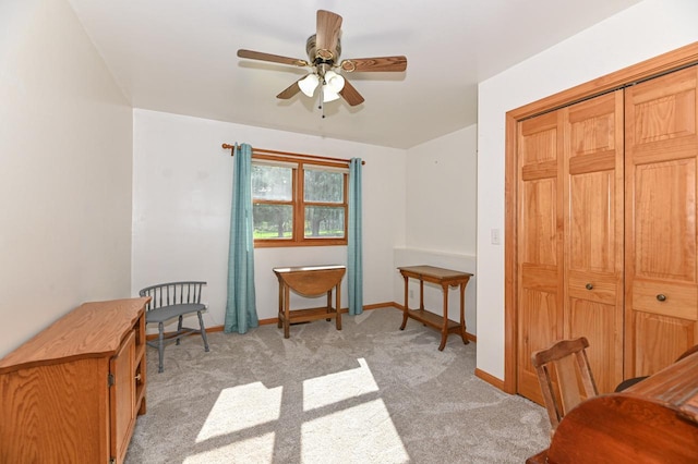
[[[476,273],[477,126],[407,150],[407,243],[395,251],[395,267],[431,265]],[[467,331],[474,334],[476,279],[466,289]],[[405,281],[396,271],[395,301],[404,304]],[[419,306],[419,283],[410,281]],[[459,320],[460,294],[450,289],[448,317]],[[442,314],[443,293],[425,284],[424,307]]]

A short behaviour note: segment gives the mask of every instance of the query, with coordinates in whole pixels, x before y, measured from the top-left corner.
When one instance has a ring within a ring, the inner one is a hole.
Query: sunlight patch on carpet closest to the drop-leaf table
[[[359,367],[303,381],[303,411],[335,404],[344,400],[378,391],[378,386],[363,357]]]

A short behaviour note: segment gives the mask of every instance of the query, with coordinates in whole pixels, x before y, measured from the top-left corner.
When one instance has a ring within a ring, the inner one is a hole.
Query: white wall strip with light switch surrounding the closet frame
[[[697,24],[695,0],[646,0],[480,84],[479,369],[504,378],[504,246],[490,243],[490,231],[504,231],[505,113],[691,44]]]

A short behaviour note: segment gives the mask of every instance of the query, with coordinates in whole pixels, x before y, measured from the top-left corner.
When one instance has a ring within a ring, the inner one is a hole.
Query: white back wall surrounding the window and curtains
[[[405,150],[141,109],[134,110],[132,293],[152,283],[202,279],[208,282],[205,322],[224,323],[232,158],[221,144],[236,142],[365,160],[364,305],[393,302],[393,248],[405,244]],[[344,246],[255,249],[260,319],[278,310],[272,268],[346,261]],[[342,292],[346,307],[346,282]]]

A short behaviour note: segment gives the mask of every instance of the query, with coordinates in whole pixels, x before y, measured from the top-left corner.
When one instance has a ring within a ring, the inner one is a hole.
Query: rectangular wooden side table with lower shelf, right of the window
[[[460,333],[462,342],[468,344],[469,341],[466,338],[466,285],[472,274],[434,266],[407,266],[398,269],[405,279],[405,308],[402,309],[402,325],[400,326],[400,330],[405,330],[407,319],[411,318],[441,331],[440,351],[443,351],[444,346],[446,346],[446,339],[449,333]],[[408,283],[410,278],[419,280],[419,309],[409,308]],[[424,282],[431,282],[442,286],[444,292],[443,317],[424,309]],[[460,286],[460,322],[454,322],[448,319],[449,286]]]

